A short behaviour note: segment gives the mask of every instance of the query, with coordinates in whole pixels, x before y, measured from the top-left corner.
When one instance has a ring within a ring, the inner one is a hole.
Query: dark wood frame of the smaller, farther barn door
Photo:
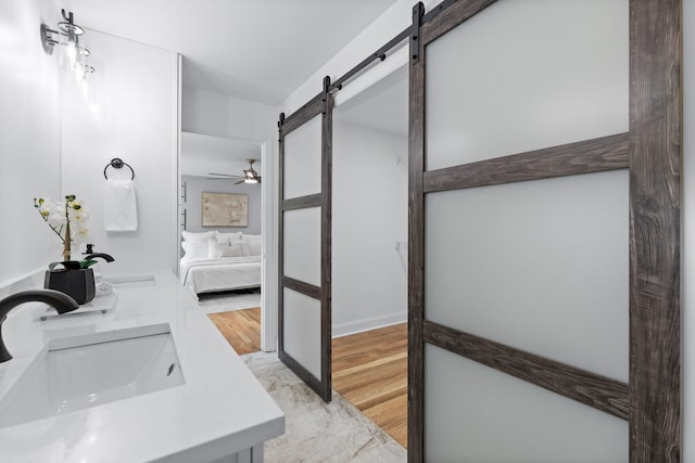
[[[333,98],[329,91],[330,78],[324,79],[324,92],[319,98],[302,106],[289,117],[280,114],[278,121],[280,146],[279,217],[278,217],[278,358],[300,376],[321,399],[331,400],[331,197],[332,197],[332,111]],[[285,137],[294,129],[321,115],[321,191],[319,193],[285,200]],[[316,286],[285,275],[285,213],[288,210],[320,207],[321,209],[321,284]],[[314,376],[304,365],[285,350],[285,298],[283,288],[317,299],[320,303],[320,377]]]

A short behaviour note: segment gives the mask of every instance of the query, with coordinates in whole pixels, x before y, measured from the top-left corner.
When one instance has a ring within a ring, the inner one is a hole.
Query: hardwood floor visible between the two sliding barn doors
[[[333,389],[407,448],[407,323],[334,338]]]

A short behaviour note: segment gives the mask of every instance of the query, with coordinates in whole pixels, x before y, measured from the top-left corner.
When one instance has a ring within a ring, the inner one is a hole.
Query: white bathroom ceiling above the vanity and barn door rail
[[[184,85],[277,105],[396,0],[61,0],[84,27],[184,55]]]

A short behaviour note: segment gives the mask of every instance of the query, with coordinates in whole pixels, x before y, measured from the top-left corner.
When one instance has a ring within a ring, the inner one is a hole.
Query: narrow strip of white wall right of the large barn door
[[[695,462],[695,0],[683,1],[683,461]]]

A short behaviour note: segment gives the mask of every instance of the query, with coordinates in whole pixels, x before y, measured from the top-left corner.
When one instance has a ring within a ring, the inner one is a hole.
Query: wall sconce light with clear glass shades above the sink
[[[85,34],[85,29],[75,24],[72,11],[67,14],[65,14],[65,10],[61,10],[61,12],[64,21],[58,23],[58,30],[41,24],[41,46],[46,54],[53,54],[55,46],[64,47],[61,66],[74,69],[75,76],[80,80],[87,74],[94,72],[94,68],[86,63],[86,57],[90,54],[89,50],[79,46],[79,36]]]

